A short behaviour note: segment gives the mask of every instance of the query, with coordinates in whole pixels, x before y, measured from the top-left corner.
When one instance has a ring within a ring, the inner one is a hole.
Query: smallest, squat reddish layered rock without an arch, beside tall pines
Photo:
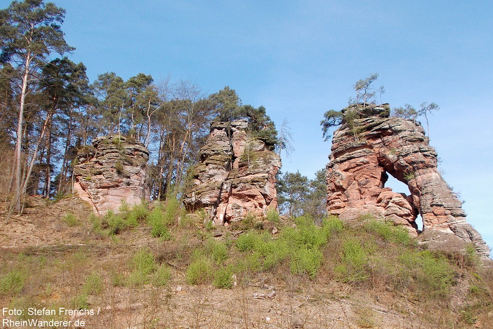
[[[140,204],[149,200],[148,158],[140,142],[118,135],[97,137],[77,154],[73,189],[98,214],[118,212],[122,200]]]

